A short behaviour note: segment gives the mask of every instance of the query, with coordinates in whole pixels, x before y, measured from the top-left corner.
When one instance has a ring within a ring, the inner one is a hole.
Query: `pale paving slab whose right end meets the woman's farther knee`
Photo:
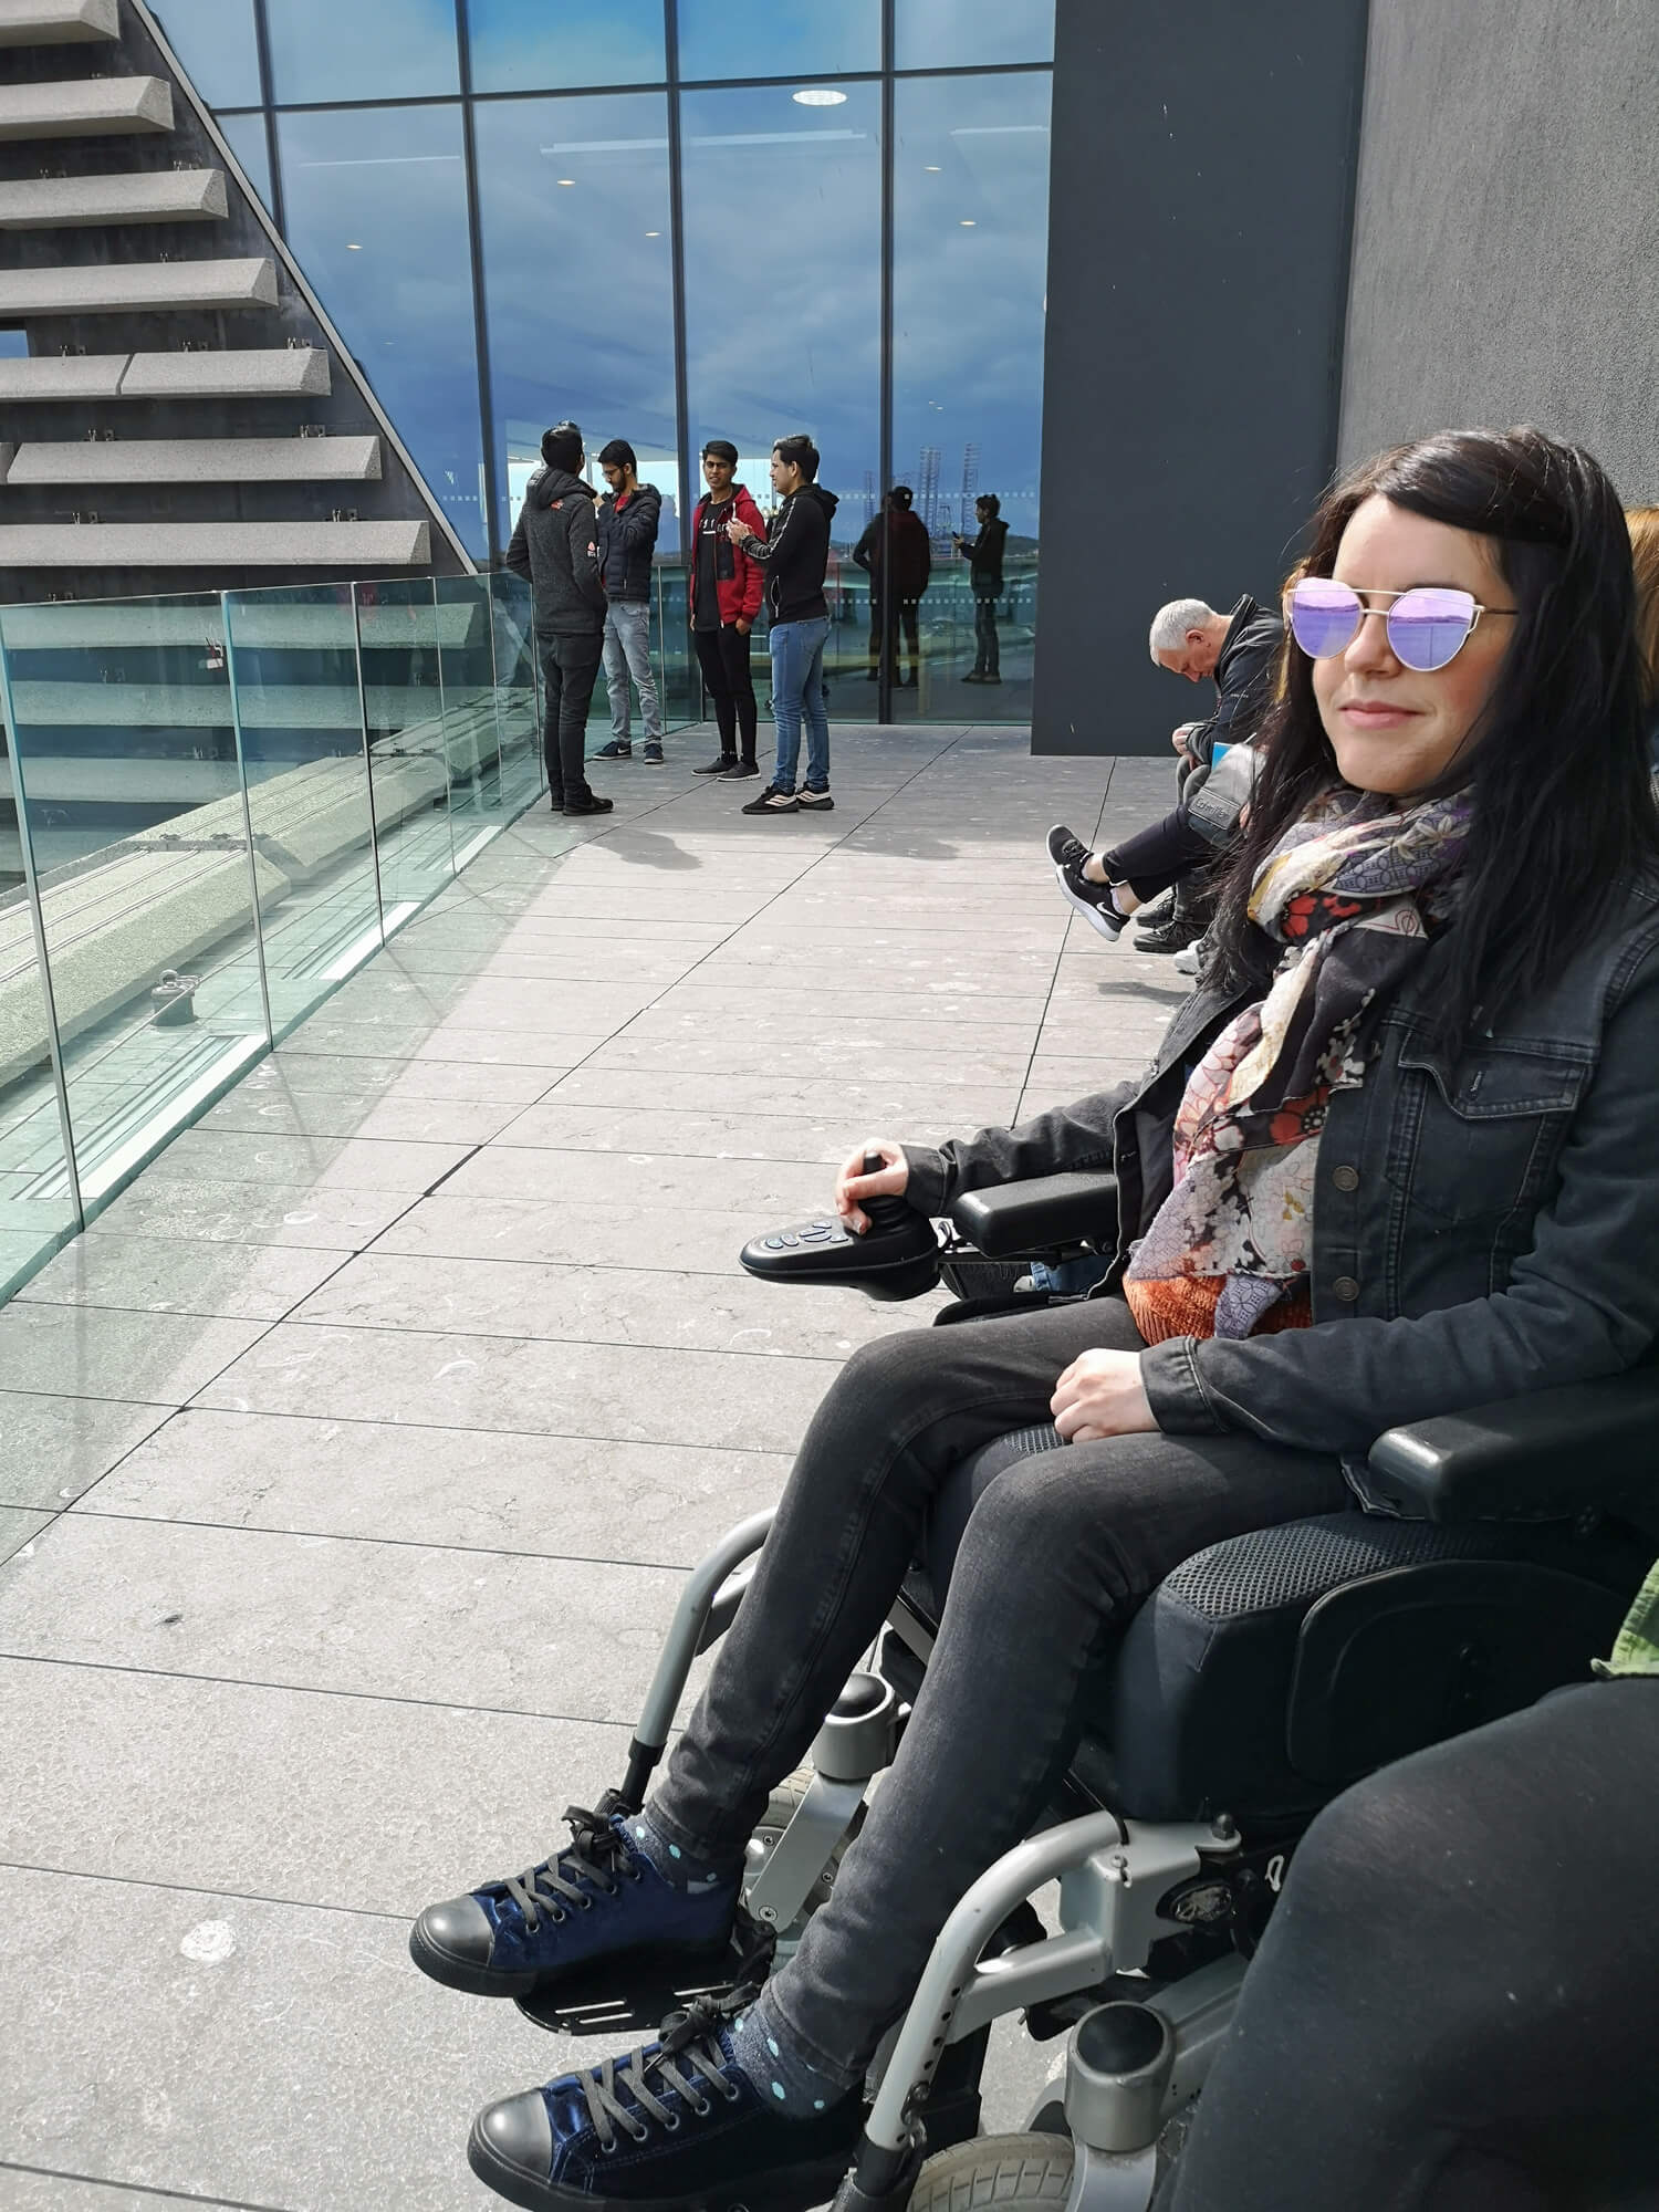
[[[832,1374],[834,1356],[754,1360],[438,1329],[376,1332],[369,1343],[361,1329],[283,1321],[226,1367],[199,1402],[250,1413],[792,1451]]]

